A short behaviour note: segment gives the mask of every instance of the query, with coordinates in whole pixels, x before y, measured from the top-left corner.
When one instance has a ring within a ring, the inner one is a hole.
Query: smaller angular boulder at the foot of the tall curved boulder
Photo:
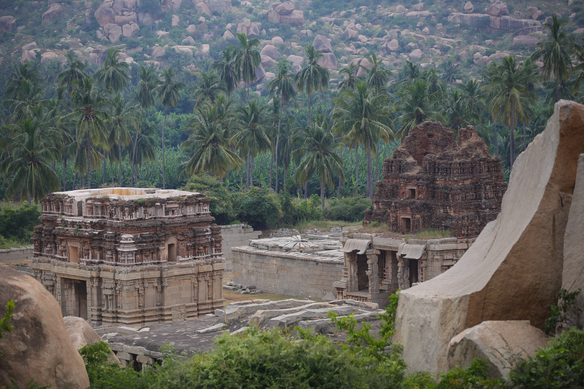
[[[509,369],[501,356],[509,357],[512,352],[526,358],[545,347],[547,341],[545,332],[531,327],[528,320],[483,321],[450,339],[448,365],[450,369],[466,369],[475,358],[488,359],[489,379],[506,378]]]

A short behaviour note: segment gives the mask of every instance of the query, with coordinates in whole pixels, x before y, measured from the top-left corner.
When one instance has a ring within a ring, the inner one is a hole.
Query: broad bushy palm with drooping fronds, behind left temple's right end
[[[234,120],[234,102],[222,104],[204,103],[195,108],[186,122],[185,132],[189,138],[180,145],[191,157],[186,163],[187,175],[207,171],[213,176],[223,177],[229,169],[237,169],[242,159],[231,151],[231,137],[237,131]]]

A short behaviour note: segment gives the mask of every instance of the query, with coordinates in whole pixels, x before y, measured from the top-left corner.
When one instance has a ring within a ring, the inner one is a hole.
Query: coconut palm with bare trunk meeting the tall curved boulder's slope
[[[500,65],[489,65],[489,84],[484,86],[491,100],[493,118],[507,124],[510,128],[509,165],[515,162],[515,127],[519,121],[530,121],[531,106],[537,100],[535,65],[531,59],[518,64],[515,57],[504,57]]]

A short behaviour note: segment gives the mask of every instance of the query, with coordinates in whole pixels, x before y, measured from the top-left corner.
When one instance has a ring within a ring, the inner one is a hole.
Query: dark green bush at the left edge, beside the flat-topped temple
[[[6,240],[29,244],[33,227],[40,223],[40,215],[38,206],[22,205],[18,209],[7,206],[0,212],[0,235]]]

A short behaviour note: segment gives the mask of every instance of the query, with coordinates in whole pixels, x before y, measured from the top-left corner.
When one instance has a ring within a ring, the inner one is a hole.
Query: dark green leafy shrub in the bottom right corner
[[[582,388],[584,386],[584,331],[571,328],[521,359],[509,372],[513,387],[522,389]]]

